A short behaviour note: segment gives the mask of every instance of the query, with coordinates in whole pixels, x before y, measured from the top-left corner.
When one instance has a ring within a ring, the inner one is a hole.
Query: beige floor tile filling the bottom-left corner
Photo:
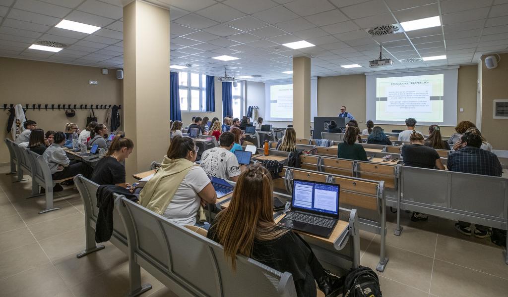
[[[70,291],[51,265],[43,264],[0,281],[3,296],[70,297]]]

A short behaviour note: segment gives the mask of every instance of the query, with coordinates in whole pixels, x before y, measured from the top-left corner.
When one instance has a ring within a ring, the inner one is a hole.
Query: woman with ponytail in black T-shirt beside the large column
[[[121,187],[129,187],[125,183],[125,166],[121,163],[129,158],[134,150],[134,142],[129,139],[116,135],[109,146],[106,156],[97,162],[93,169],[91,181],[97,184],[116,184]]]

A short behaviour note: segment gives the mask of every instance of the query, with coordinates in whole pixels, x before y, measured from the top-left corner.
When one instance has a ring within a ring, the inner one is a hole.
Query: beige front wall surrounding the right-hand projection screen
[[[508,59],[508,58],[507,58]],[[476,89],[477,89],[477,65],[461,66],[458,71],[458,103],[457,108],[464,108],[463,113],[457,110],[458,121],[468,120],[476,122]],[[347,112],[352,113],[364,129],[366,109],[365,75],[349,75],[336,77],[320,77],[317,79],[317,114],[320,117],[336,117],[340,106],[345,105]],[[492,110],[492,107],[491,109]],[[418,120],[418,119],[417,119]],[[393,129],[405,129],[399,125],[380,125],[385,131]],[[417,130],[428,131],[428,126],[417,126]],[[442,127],[443,135],[451,135],[455,132],[453,127]]]

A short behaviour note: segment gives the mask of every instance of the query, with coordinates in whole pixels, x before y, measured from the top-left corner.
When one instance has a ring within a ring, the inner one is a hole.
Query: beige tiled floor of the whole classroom
[[[30,181],[12,183],[0,167],[0,296],[123,296],[129,286],[127,257],[113,245],[80,259],[84,247],[83,206],[72,187],[55,196],[60,210],[38,214],[44,198],[25,199]],[[489,239],[464,236],[453,221],[430,217],[411,222],[402,213],[402,236],[393,235],[389,214],[384,273],[378,273],[384,296],[508,297],[508,265],[502,249]],[[361,232],[363,266],[379,261],[379,236]],[[174,294],[142,272],[153,289],[144,296]]]

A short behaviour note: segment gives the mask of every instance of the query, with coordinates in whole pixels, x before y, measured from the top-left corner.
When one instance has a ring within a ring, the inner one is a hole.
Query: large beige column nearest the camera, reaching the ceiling
[[[123,115],[134,152],[127,180],[161,161],[169,146],[169,10],[142,1],[123,8]]]

